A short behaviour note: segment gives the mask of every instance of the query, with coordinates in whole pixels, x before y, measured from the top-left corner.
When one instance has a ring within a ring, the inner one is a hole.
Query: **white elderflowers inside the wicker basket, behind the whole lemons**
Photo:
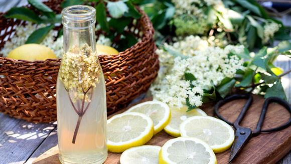
[[[26,26],[19,26],[15,29],[15,34],[11,38],[10,41],[7,41],[2,50],[0,50],[0,54],[3,54],[4,57],[7,57],[9,53],[24,45],[27,41],[28,37],[37,29],[43,28],[45,25],[33,25],[32,23],[28,23]],[[63,54],[63,36],[57,38],[58,31],[51,30],[45,39],[40,43],[40,45],[44,45],[50,48],[56,55],[57,58],[62,58]],[[100,35],[96,44],[111,46],[112,42],[109,38],[106,38],[104,35]]]

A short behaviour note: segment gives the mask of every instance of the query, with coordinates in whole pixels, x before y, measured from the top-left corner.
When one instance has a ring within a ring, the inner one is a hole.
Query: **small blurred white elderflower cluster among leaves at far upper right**
[[[268,43],[268,41],[273,38],[274,33],[277,32],[280,29],[281,25],[276,24],[273,21],[267,22],[264,25],[264,37],[263,37],[263,44]]]

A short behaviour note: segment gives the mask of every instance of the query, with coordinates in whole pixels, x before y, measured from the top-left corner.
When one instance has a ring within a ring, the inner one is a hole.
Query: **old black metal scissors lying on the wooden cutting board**
[[[218,109],[225,103],[236,100],[236,99],[247,99],[246,104],[243,106],[240,114],[238,115],[237,119],[232,123],[229,122],[228,120],[226,120],[225,118],[223,118],[220,113],[218,112]],[[218,118],[220,118],[221,120],[225,121],[226,123],[228,123],[229,125],[233,126],[236,131],[235,131],[235,138],[231,147],[231,152],[230,152],[230,156],[229,156],[229,160],[228,163],[230,163],[232,161],[232,159],[234,159],[234,157],[239,153],[239,151],[242,149],[242,147],[246,144],[246,142],[251,138],[251,137],[255,137],[257,135],[259,135],[261,132],[272,132],[272,131],[279,131],[282,130],[288,126],[291,125],[291,117],[289,119],[288,122],[284,123],[281,126],[275,127],[275,128],[271,128],[271,129],[261,129],[262,125],[263,125],[263,121],[267,112],[267,108],[268,105],[271,102],[276,102],[282,106],[284,106],[288,112],[291,114],[291,106],[289,105],[288,102],[286,102],[285,100],[278,98],[278,97],[269,97],[267,99],[265,99],[265,102],[263,104],[263,108],[260,114],[260,118],[257,122],[257,127],[255,130],[251,130],[250,128],[246,128],[246,127],[242,127],[239,125],[239,123],[242,121],[246,111],[248,110],[248,108],[250,107],[251,103],[252,103],[252,95],[250,94],[234,94],[231,95],[223,100],[220,100],[217,102],[217,104],[214,107],[214,112],[217,115]]]

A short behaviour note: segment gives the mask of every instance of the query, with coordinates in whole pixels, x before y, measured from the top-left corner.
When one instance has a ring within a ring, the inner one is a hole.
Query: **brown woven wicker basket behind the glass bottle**
[[[61,2],[50,0],[45,4],[60,13]],[[152,23],[142,10],[136,9],[142,17],[136,24],[128,25],[126,32],[140,41],[118,55],[99,56],[104,76],[107,76],[107,114],[118,111],[140,93],[146,92],[158,74],[159,60],[155,54]],[[24,22],[0,15],[0,48],[3,48],[15,27]],[[100,33],[96,32],[96,35]],[[115,44],[119,40],[120,36],[117,36]],[[0,57],[0,111],[33,122],[56,120],[56,81],[60,63],[60,60],[54,59],[30,62]],[[116,76],[110,77],[111,74]]]

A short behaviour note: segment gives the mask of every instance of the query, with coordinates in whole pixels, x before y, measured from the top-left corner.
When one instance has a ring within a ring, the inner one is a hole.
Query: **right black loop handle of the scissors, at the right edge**
[[[278,104],[284,106],[288,110],[288,112],[290,113],[290,119],[289,119],[288,122],[284,123],[281,126],[278,126],[278,127],[275,127],[275,128],[271,128],[271,129],[261,129],[262,125],[263,125],[263,122],[264,122],[264,119],[265,119],[265,115],[266,115],[267,109],[268,109],[268,105],[271,102],[277,102]],[[264,102],[264,105],[263,105],[263,108],[262,108],[262,112],[261,112],[259,121],[257,123],[257,127],[256,127],[255,131],[253,131],[253,135],[258,135],[260,132],[279,131],[279,130],[282,130],[282,129],[290,126],[290,125],[291,125],[291,106],[290,106],[290,104],[288,102],[286,102],[285,100],[279,98],[279,97],[269,97]]]

